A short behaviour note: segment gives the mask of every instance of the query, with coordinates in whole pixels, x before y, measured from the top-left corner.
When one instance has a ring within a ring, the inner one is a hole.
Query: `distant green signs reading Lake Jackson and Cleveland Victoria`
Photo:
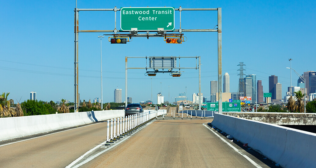
[[[218,102],[206,103],[207,110],[218,111]],[[240,102],[222,102],[224,112],[240,112]]]

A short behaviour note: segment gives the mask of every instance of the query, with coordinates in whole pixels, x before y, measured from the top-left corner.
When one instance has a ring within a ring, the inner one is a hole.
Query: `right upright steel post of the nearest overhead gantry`
[[[218,113],[222,114],[222,8],[217,8],[218,41]]]

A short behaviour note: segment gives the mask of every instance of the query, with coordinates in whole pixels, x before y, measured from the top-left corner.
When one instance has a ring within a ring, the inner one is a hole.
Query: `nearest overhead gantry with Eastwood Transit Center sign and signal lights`
[[[174,27],[174,12],[179,11],[179,29]],[[202,11],[215,10],[217,11],[217,28],[216,29],[182,29],[181,28],[181,11]],[[114,30],[79,30],[79,11],[114,11],[115,12],[115,27]],[[121,11],[121,30],[116,29],[116,12]],[[132,21],[133,20],[133,21]],[[150,33],[155,31],[156,33]],[[166,43],[184,42],[183,32],[217,32],[218,44],[218,101],[219,113],[222,113],[222,8],[182,8],[173,7],[140,7],[128,8],[123,7],[118,9],[78,9],[77,2],[75,8],[75,112],[78,112],[79,93],[78,93],[78,35],[79,32],[112,32],[113,37],[109,42],[126,44],[129,38],[132,37],[163,37]],[[118,32],[129,32],[129,34],[117,34]],[[146,32],[138,34],[138,32]],[[168,32],[168,33],[167,33]],[[177,33],[177,34],[176,34]],[[105,34],[109,35],[109,34]],[[127,63],[127,61],[125,62]],[[126,69],[127,71],[127,69]],[[177,75],[177,74],[176,74]],[[178,74],[179,75],[179,74]],[[126,87],[126,86],[125,86]],[[199,95],[201,95],[201,81],[199,80]],[[127,93],[125,93],[127,95]],[[200,97],[201,99],[201,97]],[[127,101],[127,100],[126,100]],[[201,109],[201,101],[199,101],[199,109]]]

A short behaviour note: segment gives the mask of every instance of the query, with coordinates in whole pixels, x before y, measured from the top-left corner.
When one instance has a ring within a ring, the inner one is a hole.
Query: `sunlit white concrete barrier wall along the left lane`
[[[123,117],[124,110],[0,118],[0,141]]]

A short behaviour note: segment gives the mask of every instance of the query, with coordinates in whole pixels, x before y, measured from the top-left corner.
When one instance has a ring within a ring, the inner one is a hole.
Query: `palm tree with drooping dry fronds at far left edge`
[[[13,100],[8,100],[9,93],[2,93],[0,95],[0,117],[13,117],[15,116],[15,109],[10,107],[10,104],[14,104]]]

